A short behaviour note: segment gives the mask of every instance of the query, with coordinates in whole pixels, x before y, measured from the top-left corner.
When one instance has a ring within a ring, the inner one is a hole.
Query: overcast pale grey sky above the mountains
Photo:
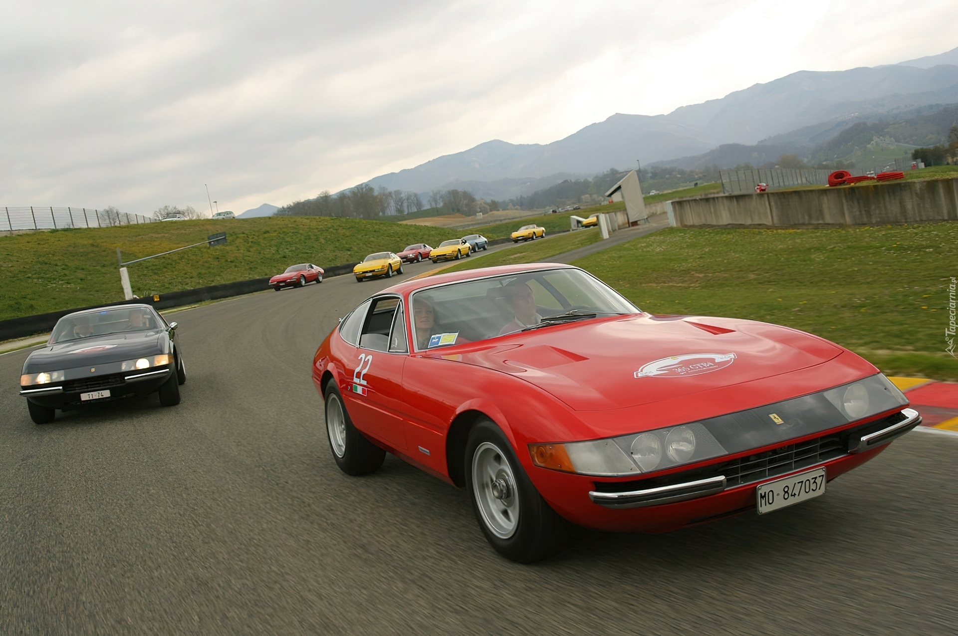
[[[958,46],[958,2],[0,4],[7,206],[283,205],[799,70]]]

